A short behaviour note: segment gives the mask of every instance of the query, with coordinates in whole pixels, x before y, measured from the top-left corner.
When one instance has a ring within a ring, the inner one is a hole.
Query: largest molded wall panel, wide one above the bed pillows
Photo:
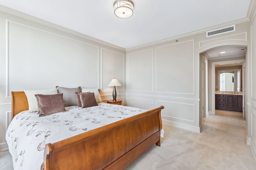
[[[24,89],[99,86],[98,46],[13,21],[6,34],[6,97]]]

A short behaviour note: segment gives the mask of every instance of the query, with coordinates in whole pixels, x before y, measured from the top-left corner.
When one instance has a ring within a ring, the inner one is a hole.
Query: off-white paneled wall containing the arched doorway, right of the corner
[[[128,105],[143,106],[145,109],[163,105],[164,123],[200,132],[203,125],[202,77],[200,77],[203,73],[200,53],[222,45],[250,46],[250,22],[236,24],[236,31],[232,33],[206,38],[204,32],[128,49],[126,52]],[[207,104],[210,111],[212,76],[209,63],[208,76],[205,80],[208,79],[210,92],[206,92],[205,97],[208,97]]]

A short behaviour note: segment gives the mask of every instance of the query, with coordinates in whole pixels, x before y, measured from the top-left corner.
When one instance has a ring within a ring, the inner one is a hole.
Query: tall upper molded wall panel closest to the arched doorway
[[[156,92],[195,94],[194,39],[156,48]]]

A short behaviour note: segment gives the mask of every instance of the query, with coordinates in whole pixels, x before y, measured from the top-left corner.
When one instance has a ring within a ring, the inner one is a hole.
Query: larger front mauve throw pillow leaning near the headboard
[[[66,111],[62,93],[49,95],[37,94],[37,97],[40,105],[39,117]]]

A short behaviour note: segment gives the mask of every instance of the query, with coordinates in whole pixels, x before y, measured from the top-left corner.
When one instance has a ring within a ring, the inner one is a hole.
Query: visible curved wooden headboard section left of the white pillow
[[[25,92],[12,92],[12,119],[24,110],[28,110],[28,99]]]

